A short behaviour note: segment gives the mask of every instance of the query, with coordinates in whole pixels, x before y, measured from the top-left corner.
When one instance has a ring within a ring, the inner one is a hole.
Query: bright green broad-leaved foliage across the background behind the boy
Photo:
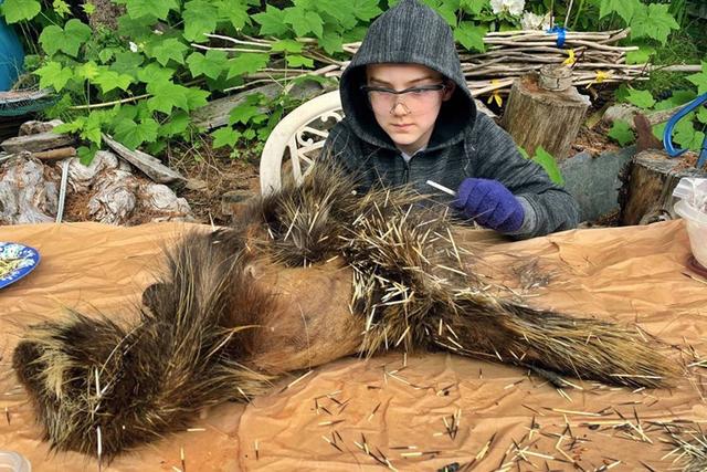
[[[6,0],[0,7],[8,23],[20,22],[22,27],[28,23],[28,31],[41,31],[38,38],[41,51],[28,56],[27,66],[41,87],[62,94],[48,114],[61,116],[66,122],[64,130],[86,140],[87,145],[80,149],[84,160],[101,145],[102,133],[112,134],[128,147],[149,149],[161,149],[168,140],[192,139],[196,129],[191,113],[209,97],[242,86],[247,75],[268,66],[319,67],[323,63],[315,49],[345,59],[339,55],[344,44],[360,41],[370,22],[395,3],[395,0],[113,1],[125,6],[116,31],[92,31],[72,17],[66,0]],[[445,19],[455,40],[468,51],[485,51],[484,35],[488,31],[520,27],[520,17],[508,11],[494,12],[489,0],[423,1]],[[659,55],[659,48],[664,48],[659,44],[666,43],[677,28],[672,14],[679,12],[661,3],[648,4],[645,0],[574,3],[579,4],[571,17],[583,27],[632,28],[629,42],[639,44],[640,50],[629,54],[629,63]],[[557,18],[563,18],[567,2],[526,1],[526,10],[535,13],[542,14],[551,6]],[[95,12],[91,2],[84,2],[83,9],[88,15]],[[241,48],[210,38],[213,33],[240,39],[260,36],[268,42],[262,48],[252,43]],[[228,45],[236,51],[204,50],[204,43]],[[706,75],[703,67],[700,74],[689,76],[690,82],[685,83],[704,90]],[[281,84],[288,81],[292,80]],[[630,90],[626,95],[644,107],[663,106],[655,103],[650,91]],[[256,149],[294,105],[286,96],[250,98],[233,109],[229,126],[211,134],[213,146],[247,145]],[[688,134],[687,128],[680,129],[680,139],[687,139]],[[695,135],[690,139],[695,140]],[[534,158],[549,169],[551,177],[561,179],[545,150],[536,150]]]

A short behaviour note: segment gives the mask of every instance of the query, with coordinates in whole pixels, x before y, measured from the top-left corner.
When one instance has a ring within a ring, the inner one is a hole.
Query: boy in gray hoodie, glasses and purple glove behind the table
[[[418,0],[401,0],[371,24],[340,94],[346,117],[323,155],[358,175],[362,191],[409,183],[517,239],[577,227],[572,196],[476,112],[452,30]]]

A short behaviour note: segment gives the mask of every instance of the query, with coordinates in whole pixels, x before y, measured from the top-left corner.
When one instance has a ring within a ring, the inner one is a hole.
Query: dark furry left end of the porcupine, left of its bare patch
[[[53,449],[110,460],[186,428],[205,406],[266,389],[268,376],[238,363],[272,305],[265,293],[231,291],[246,282],[242,248],[230,231],[188,234],[168,252],[168,276],[145,292],[148,306],[133,326],[74,312],[31,327],[13,367]]]

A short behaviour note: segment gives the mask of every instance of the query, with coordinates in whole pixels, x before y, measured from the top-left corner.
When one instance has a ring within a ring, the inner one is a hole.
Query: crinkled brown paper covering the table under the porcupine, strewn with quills
[[[66,307],[135,316],[143,289],[160,269],[161,248],[187,228],[0,229],[0,240],[32,245],[42,255],[33,273],[0,290],[0,450],[22,453],[34,471],[98,470],[94,458],[53,453],[42,441],[11,370],[12,349],[24,326],[60,317]],[[464,237],[476,238],[471,231]],[[284,378],[247,405],[203,411],[192,429],[125,453],[103,470],[431,471],[472,461],[467,470],[573,470],[572,461],[577,470],[679,470],[657,424],[707,420],[700,367],[707,363],[699,358],[707,354],[707,284],[686,269],[684,223],[487,240],[477,250],[478,270],[497,272],[496,281],[526,303],[636,324],[646,338],[664,343],[650,340],[656,348],[692,367],[669,389],[571,380],[578,388],[559,391],[520,368],[450,354],[344,358],[289,388],[299,374]],[[458,424],[457,432],[450,434],[445,422]]]

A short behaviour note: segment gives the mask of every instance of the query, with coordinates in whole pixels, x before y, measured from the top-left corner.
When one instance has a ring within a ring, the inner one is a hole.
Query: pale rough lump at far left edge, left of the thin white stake
[[[0,224],[54,221],[59,176],[38,159],[14,158],[0,166]]]

